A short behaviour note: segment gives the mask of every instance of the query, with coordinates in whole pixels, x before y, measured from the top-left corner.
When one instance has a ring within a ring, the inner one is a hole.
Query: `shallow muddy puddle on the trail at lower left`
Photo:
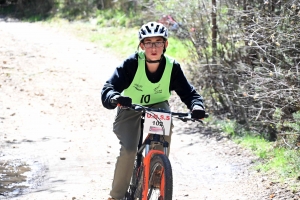
[[[0,199],[27,193],[41,185],[41,171],[45,170],[38,162],[0,160]]]

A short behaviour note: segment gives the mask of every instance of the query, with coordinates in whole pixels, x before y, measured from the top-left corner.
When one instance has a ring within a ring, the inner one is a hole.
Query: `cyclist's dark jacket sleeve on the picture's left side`
[[[104,83],[101,91],[102,105],[107,109],[116,108],[110,103],[110,99],[115,95],[120,95],[122,91],[128,88],[134,78],[137,70],[136,55],[133,54],[113,72],[112,76]]]

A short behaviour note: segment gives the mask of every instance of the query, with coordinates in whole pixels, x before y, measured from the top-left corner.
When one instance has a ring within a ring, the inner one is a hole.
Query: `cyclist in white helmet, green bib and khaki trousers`
[[[103,106],[116,108],[111,103],[114,99],[121,108],[135,103],[170,110],[168,99],[174,90],[191,110],[193,118],[204,118],[203,98],[187,81],[180,64],[164,54],[169,45],[168,29],[161,23],[149,22],[140,28],[138,39],[137,51],[125,59],[104,84],[101,92]],[[141,113],[121,108],[117,108],[113,123],[121,149],[108,200],[124,198],[140,137]],[[171,144],[171,133],[165,136],[165,140]]]

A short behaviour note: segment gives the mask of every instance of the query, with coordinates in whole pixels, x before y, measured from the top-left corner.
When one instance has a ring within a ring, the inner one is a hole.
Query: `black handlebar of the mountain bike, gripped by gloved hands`
[[[112,104],[120,106],[120,105],[118,105],[118,102],[115,99],[111,99],[110,102]],[[184,122],[187,122],[187,121],[198,121],[198,122],[202,122],[203,123],[202,119],[191,118],[191,114],[188,113],[188,112],[186,112],[186,113],[171,112],[171,111],[164,110],[162,108],[149,108],[149,107],[146,107],[146,106],[143,106],[143,105],[139,105],[139,104],[132,104],[131,107],[127,107],[127,108],[129,108],[131,110],[134,110],[134,111],[137,111],[137,112],[142,112],[142,113],[145,113],[146,111],[169,113],[172,116],[176,116],[175,118],[180,119],[181,121],[184,121]],[[205,113],[205,118],[208,118],[208,117],[209,117],[209,114]]]

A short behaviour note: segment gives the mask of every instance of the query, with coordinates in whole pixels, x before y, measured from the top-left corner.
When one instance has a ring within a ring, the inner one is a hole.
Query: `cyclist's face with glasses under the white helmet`
[[[159,60],[163,54],[164,47],[167,48],[168,41],[164,41],[162,37],[145,38],[140,43],[141,49],[145,51],[146,58],[149,60]]]

